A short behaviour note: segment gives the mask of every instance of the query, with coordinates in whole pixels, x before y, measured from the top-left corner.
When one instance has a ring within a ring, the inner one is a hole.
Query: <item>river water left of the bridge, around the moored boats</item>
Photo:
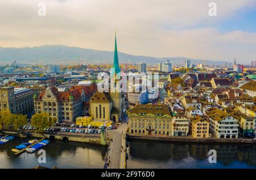
[[[24,152],[15,156],[11,149],[22,142],[27,142],[23,138],[16,138],[11,142],[0,145],[0,168],[34,168],[44,166],[52,168],[103,168],[107,146],[94,145],[78,142],[63,142],[61,140],[51,140],[44,147],[46,150],[46,164],[38,163],[38,153]]]

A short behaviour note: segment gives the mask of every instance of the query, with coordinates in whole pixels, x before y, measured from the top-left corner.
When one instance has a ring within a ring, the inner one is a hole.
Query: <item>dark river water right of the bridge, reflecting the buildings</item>
[[[256,168],[256,144],[188,144],[130,140],[127,168]],[[216,164],[208,152],[217,152]]]

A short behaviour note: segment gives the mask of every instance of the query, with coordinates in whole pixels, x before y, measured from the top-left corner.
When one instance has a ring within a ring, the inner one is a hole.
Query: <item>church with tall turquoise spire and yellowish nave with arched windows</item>
[[[115,35],[114,64],[110,80],[117,81],[121,69],[118,63],[117,36]],[[120,122],[125,117],[126,102],[123,92],[96,92],[90,97],[90,115],[94,121]]]

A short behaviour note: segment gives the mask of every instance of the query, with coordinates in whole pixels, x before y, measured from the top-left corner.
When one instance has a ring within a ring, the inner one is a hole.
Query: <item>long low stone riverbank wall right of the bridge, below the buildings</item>
[[[218,138],[192,138],[191,136],[144,136],[144,135],[131,135],[127,134],[127,139],[140,139],[140,140],[158,140],[165,142],[184,142],[184,143],[241,143],[241,144],[253,144],[256,143],[256,139],[218,139]]]

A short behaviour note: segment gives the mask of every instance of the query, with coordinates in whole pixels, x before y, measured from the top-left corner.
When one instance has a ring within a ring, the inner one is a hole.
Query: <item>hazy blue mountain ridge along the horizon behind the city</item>
[[[6,64],[14,60],[19,64],[39,63],[39,64],[75,64],[75,63],[112,63],[113,51],[85,49],[76,46],[65,45],[43,45],[22,48],[4,48],[0,47],[0,63]],[[118,52],[119,63],[148,63],[157,64],[170,60],[174,65],[183,64],[185,59],[191,60],[191,63],[204,63],[219,65],[225,61],[213,61],[208,59],[192,59],[186,57],[163,57],[156,58],[144,55],[131,55]]]

